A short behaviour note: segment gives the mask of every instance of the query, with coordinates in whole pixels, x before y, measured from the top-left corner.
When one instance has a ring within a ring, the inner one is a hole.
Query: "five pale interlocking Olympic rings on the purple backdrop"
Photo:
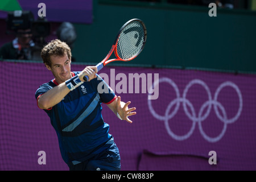
[[[156,113],[156,111],[152,107],[152,101],[151,100],[148,100],[148,108],[150,110],[150,113],[156,119],[158,119],[160,121],[164,121],[164,126],[166,127],[166,130],[167,130],[168,134],[172,138],[174,138],[175,140],[185,140],[185,139],[188,139],[189,137],[191,137],[193,131],[195,130],[196,123],[198,123],[199,130],[200,130],[200,133],[203,136],[203,138],[205,140],[207,140],[208,142],[217,142],[218,140],[220,140],[224,136],[224,134],[226,132],[226,129],[228,127],[228,124],[236,122],[237,119],[241,115],[242,104],[243,104],[243,102],[242,102],[242,94],[241,94],[241,91],[238,88],[238,86],[236,84],[234,84],[233,82],[231,82],[231,81],[226,81],[226,82],[223,82],[221,85],[219,85],[217,90],[216,90],[216,92],[214,93],[214,97],[213,98],[212,98],[212,95],[210,94],[210,89],[207,86],[207,84],[205,84],[204,81],[199,80],[199,79],[192,80],[192,81],[190,81],[188,83],[187,86],[185,86],[185,89],[184,89],[182,97],[180,97],[180,92],[179,92],[179,89],[178,89],[177,85],[170,78],[167,78],[167,77],[160,78],[158,81],[154,82],[154,86],[160,84],[161,82],[167,82],[168,84],[170,84],[174,88],[175,93],[176,93],[176,98],[174,100],[172,100],[170,102],[170,104],[168,104],[167,109],[166,109],[164,115],[159,115],[158,113]],[[192,103],[186,98],[187,97],[187,93],[189,91],[189,88],[191,88],[191,86],[195,85],[195,84],[199,84],[199,85],[203,86],[203,88],[205,89],[205,91],[207,92],[207,95],[208,95],[208,101],[205,101],[204,104],[201,105],[201,107],[199,109],[199,113],[197,113],[197,114],[195,112],[195,108],[193,107]],[[231,86],[236,91],[236,93],[238,95],[238,99],[239,99],[239,107],[238,107],[238,110],[237,110],[237,114],[234,115],[233,118],[228,118],[227,117],[226,110],[225,110],[224,106],[220,102],[218,102],[218,95],[220,94],[221,90],[223,88],[225,88],[226,86]],[[151,90],[150,90],[149,93],[151,93]],[[187,115],[189,120],[192,121],[192,126],[191,126],[191,129],[188,131],[187,134],[185,134],[185,135],[176,135],[170,129],[168,121],[174,117],[174,115],[179,110],[179,107],[180,107],[181,104],[183,106],[185,115]],[[172,107],[174,107],[174,109],[170,113]],[[201,124],[209,116],[210,111],[212,110],[212,107],[214,109],[215,114],[217,115],[217,118],[220,119],[220,121],[224,123],[223,129],[222,129],[221,133],[217,137],[209,137],[204,132],[202,124]],[[188,108],[191,111],[190,113],[188,111]],[[205,109],[207,109],[207,110],[203,114],[203,111]],[[220,114],[219,110],[221,111],[221,114]]]

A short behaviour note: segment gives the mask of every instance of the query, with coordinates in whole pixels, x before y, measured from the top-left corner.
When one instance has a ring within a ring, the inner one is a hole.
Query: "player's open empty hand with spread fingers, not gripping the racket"
[[[120,115],[120,117],[123,120],[126,120],[129,123],[132,123],[133,121],[131,121],[129,119],[129,116],[136,114],[136,112],[132,112],[132,111],[136,110],[136,107],[132,107],[132,108],[129,109],[129,107],[128,107],[129,104],[131,104],[131,101],[126,102],[126,103],[121,102],[121,97],[120,96],[117,97],[117,111],[118,111],[118,114]]]

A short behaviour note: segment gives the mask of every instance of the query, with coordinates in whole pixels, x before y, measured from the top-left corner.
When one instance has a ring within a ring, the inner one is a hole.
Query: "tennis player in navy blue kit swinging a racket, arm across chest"
[[[135,107],[122,102],[106,82],[97,75],[97,67],[71,72],[71,49],[60,40],[52,40],[41,52],[46,68],[55,77],[36,90],[38,107],[51,119],[59,139],[60,152],[70,170],[120,170],[120,155],[109,125],[102,118],[101,103],[119,119],[136,114]],[[89,77],[88,82],[82,79]],[[104,84],[102,84],[102,82]],[[98,84],[109,92],[98,92]]]

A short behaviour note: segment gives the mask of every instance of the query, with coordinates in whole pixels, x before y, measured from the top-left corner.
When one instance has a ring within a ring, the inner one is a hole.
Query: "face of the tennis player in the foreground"
[[[71,60],[68,59],[67,53],[64,56],[51,56],[51,67],[46,66],[52,72],[58,84],[72,78],[71,75]]]

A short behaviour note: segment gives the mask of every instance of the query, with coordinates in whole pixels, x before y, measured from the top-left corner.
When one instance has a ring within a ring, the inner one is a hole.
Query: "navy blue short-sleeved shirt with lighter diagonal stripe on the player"
[[[72,72],[72,76],[78,73]],[[36,99],[57,85],[55,79],[41,85],[36,90]],[[98,92],[98,87],[105,87],[105,92]],[[113,143],[109,125],[102,118],[101,104],[110,104],[115,98],[112,89],[97,75],[97,78],[69,92],[59,104],[44,110],[51,119],[61,156],[68,166],[88,160]]]

